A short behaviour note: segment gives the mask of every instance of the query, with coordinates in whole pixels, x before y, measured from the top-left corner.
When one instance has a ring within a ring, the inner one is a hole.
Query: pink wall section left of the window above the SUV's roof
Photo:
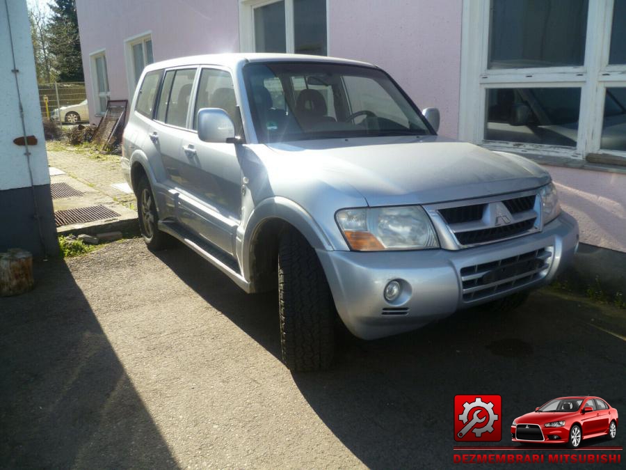
[[[106,49],[111,99],[128,97],[125,40],[152,31],[154,61],[239,52],[236,0],[77,0],[90,119],[97,123],[89,54]]]

